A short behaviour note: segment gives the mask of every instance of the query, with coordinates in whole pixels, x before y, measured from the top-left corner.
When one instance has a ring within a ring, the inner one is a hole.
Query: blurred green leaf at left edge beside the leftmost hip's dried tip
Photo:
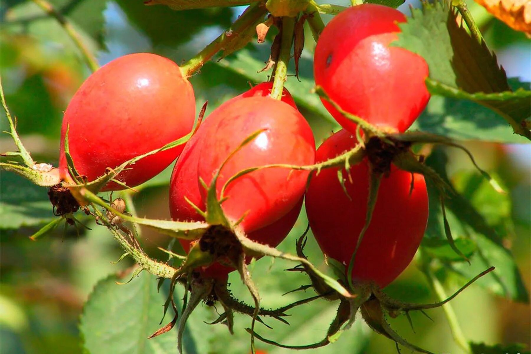
[[[12,172],[2,171],[0,195],[0,229],[38,226],[55,218],[47,189]]]

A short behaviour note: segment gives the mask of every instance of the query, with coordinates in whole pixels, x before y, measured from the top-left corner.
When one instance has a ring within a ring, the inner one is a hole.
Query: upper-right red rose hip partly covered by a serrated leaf
[[[424,59],[389,47],[406,18],[391,7],[349,7],[324,28],[314,56],[315,84],[342,109],[369,123],[404,132],[430,99]],[[355,133],[356,124],[322,100],[339,124]]]

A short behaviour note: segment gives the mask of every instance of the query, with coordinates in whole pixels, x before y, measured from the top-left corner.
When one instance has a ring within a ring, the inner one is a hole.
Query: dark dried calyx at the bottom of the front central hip
[[[236,261],[243,253],[242,245],[233,232],[220,225],[209,227],[199,240],[199,247],[216,258],[227,257],[230,261]]]

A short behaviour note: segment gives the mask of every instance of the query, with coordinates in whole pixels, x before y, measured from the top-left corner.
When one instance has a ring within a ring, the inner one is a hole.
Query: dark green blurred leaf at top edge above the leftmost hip
[[[230,8],[172,11],[165,6],[146,6],[142,1],[117,0],[117,4],[136,28],[151,39],[153,46],[184,44],[200,30],[220,26],[228,28]],[[186,30],[174,30],[175,25]]]

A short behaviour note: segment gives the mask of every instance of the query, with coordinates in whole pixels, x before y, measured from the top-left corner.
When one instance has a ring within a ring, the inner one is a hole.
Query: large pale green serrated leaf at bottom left
[[[116,284],[123,281],[111,275],[96,284],[81,315],[84,348],[93,354],[176,354],[175,328],[148,340],[148,336],[161,327],[159,322],[167,292],[158,292],[157,279],[147,272],[125,285]],[[175,296],[178,307],[181,297],[181,294]],[[193,335],[190,329],[185,330],[186,353],[206,352],[206,341],[194,338],[198,335]],[[201,336],[204,339],[205,335]]]

